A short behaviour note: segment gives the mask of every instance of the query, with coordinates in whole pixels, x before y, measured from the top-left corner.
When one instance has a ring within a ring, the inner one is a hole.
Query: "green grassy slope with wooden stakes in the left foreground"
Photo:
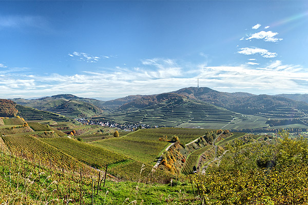
[[[11,168],[11,169],[10,169]],[[82,175],[32,164],[0,155],[0,204],[198,204],[188,182],[172,186],[138,182],[115,182],[107,176],[98,188],[98,173]],[[10,171],[11,170],[11,171]],[[92,203],[93,179],[93,203]],[[102,179],[102,178],[101,178]]]

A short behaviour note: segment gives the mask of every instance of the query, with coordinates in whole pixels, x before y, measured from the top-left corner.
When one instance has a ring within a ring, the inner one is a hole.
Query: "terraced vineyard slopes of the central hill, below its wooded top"
[[[153,126],[176,127],[185,122],[227,124],[235,115],[234,112],[211,104],[178,99],[176,101],[166,100],[138,110],[133,108],[119,110],[113,116],[107,117],[136,124],[142,122]]]

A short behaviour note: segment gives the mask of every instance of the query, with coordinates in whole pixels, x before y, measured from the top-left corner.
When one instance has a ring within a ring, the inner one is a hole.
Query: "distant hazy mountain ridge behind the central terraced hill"
[[[292,99],[293,98],[293,99]],[[300,117],[308,114],[308,104],[299,101],[308,95],[254,95],[245,92],[220,92],[207,87],[188,87],[168,93],[153,95],[129,95],[126,97],[102,101],[78,97],[72,94],[59,94],[50,97],[26,100],[13,99],[17,104],[59,113],[68,117],[111,116],[114,112],[127,112],[147,109],[170,100],[189,99],[221,107],[236,113],[260,114],[266,117]],[[296,99],[296,100],[295,100]],[[185,104],[181,104],[184,109]],[[168,105],[166,105],[168,107]]]

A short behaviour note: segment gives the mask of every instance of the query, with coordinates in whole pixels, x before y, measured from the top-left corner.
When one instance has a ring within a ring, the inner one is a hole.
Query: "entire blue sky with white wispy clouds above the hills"
[[[307,1],[0,1],[0,98],[307,93]]]

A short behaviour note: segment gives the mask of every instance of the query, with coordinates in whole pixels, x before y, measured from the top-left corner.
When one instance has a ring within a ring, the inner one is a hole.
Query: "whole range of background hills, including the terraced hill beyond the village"
[[[289,96],[289,95],[285,95]],[[304,99],[303,95],[290,95]],[[189,87],[155,95],[129,95],[109,101],[60,94],[14,99],[17,104],[71,118],[119,123],[203,128],[264,128],[271,119],[305,118],[308,104],[283,95],[254,95]],[[290,121],[290,120],[289,120]]]

